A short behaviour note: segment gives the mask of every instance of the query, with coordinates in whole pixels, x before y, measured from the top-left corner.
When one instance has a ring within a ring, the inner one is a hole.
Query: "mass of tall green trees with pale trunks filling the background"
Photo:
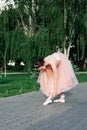
[[[38,56],[61,48],[83,66],[87,57],[85,0],[14,0],[14,4],[15,8],[10,4],[0,14],[0,62],[21,58],[30,71]]]

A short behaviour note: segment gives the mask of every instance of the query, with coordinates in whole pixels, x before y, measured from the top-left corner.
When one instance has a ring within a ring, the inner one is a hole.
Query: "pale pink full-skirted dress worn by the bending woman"
[[[71,62],[64,54],[53,53],[44,60],[51,67],[47,67],[45,71],[40,71],[38,82],[41,91],[46,96],[52,94],[53,97],[56,97],[78,84]]]

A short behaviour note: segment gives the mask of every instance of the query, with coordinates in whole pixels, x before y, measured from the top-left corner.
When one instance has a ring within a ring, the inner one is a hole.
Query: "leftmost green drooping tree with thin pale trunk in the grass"
[[[21,44],[24,41],[24,32],[17,25],[17,13],[12,7],[5,9],[0,15],[0,59],[3,60],[6,77],[8,60],[16,60],[21,56]]]

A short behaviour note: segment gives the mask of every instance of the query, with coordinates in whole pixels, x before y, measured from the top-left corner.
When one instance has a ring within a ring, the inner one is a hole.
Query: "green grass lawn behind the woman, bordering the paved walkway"
[[[79,82],[87,82],[87,74],[77,74]],[[0,79],[0,97],[38,91],[39,84],[29,74],[12,74]]]

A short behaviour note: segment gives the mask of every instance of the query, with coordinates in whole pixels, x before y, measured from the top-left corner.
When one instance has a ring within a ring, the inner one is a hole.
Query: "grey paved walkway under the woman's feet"
[[[66,103],[43,106],[41,92],[0,99],[0,130],[87,130],[87,83],[66,93]]]

